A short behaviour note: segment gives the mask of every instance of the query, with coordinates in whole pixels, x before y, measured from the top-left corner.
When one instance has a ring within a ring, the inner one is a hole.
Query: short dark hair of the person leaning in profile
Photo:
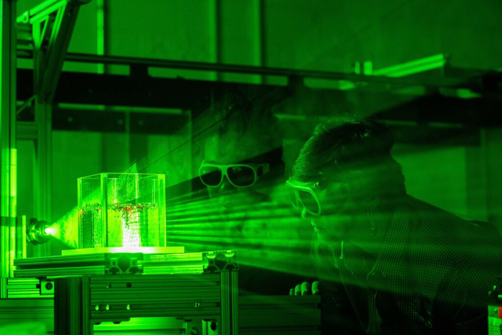
[[[379,120],[346,117],[320,124],[301,148],[292,177],[319,181],[360,170],[365,188],[395,199],[406,188],[401,165],[391,155],[393,145],[389,127]]]

